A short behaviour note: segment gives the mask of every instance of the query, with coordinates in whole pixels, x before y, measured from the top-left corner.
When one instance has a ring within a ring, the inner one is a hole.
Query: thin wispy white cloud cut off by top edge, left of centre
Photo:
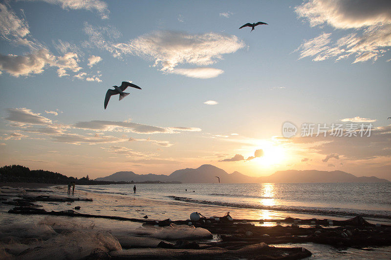
[[[34,0],[29,0],[34,1]],[[60,5],[64,10],[86,9],[97,11],[102,19],[109,19],[109,9],[107,3],[101,0],[35,0],[44,1],[50,4]]]

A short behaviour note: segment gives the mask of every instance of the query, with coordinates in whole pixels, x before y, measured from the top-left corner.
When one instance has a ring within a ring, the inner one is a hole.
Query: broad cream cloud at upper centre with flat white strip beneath
[[[176,31],[154,31],[128,43],[117,43],[113,47],[121,54],[130,54],[154,60],[154,65],[163,72],[174,72],[178,64],[211,65],[222,59],[223,54],[234,53],[245,46],[234,35],[218,33],[188,34]],[[217,70],[177,70],[184,75],[215,75]],[[202,73],[201,73],[202,72]],[[212,73],[213,72],[213,73]],[[221,72],[219,72],[221,73]]]

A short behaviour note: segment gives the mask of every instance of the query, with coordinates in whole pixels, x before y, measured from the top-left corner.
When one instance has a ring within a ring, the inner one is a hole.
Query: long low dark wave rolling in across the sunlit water
[[[343,209],[343,208],[313,208],[313,207],[299,207],[299,206],[266,206],[266,205],[254,205],[247,203],[232,203],[223,201],[209,201],[209,200],[196,200],[192,198],[167,196],[167,198],[173,200],[180,200],[185,202],[192,202],[198,204],[209,204],[224,207],[245,208],[245,209],[262,209],[262,210],[274,210],[284,211],[292,213],[307,213],[313,215],[325,215],[325,216],[356,216],[360,215],[367,218],[378,219],[391,219],[391,211],[375,211],[375,210],[357,210],[357,209]]]

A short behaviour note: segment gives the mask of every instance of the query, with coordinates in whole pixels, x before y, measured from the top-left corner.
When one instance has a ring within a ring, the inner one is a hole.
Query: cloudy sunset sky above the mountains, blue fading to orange
[[[390,48],[391,1],[2,0],[0,166],[391,180]]]

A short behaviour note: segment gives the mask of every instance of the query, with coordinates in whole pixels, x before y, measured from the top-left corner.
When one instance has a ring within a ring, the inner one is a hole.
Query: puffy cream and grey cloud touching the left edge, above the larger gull
[[[41,49],[25,56],[0,54],[0,70],[6,71],[14,77],[19,77],[43,73],[45,66],[49,66],[57,67],[58,76],[63,77],[68,75],[67,70],[77,72],[81,69],[78,61],[78,56],[75,53],[54,56],[47,49]]]

